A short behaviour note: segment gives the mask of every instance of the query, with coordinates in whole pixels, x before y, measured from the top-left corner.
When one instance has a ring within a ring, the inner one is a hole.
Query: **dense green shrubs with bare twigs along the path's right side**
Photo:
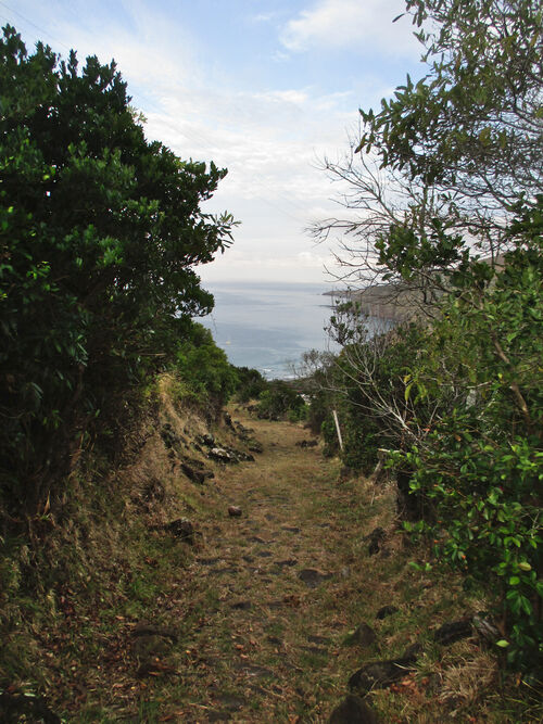
[[[517,213],[502,265],[464,257],[431,325],[367,339],[356,333],[363,320],[350,327],[343,315],[346,343],[327,385],[344,462],[367,473],[378,447],[392,450],[419,518],[406,530],[466,583],[490,584],[506,632],[500,645],[534,671],[543,661],[543,199]],[[337,452],[331,416],[323,434]]]

